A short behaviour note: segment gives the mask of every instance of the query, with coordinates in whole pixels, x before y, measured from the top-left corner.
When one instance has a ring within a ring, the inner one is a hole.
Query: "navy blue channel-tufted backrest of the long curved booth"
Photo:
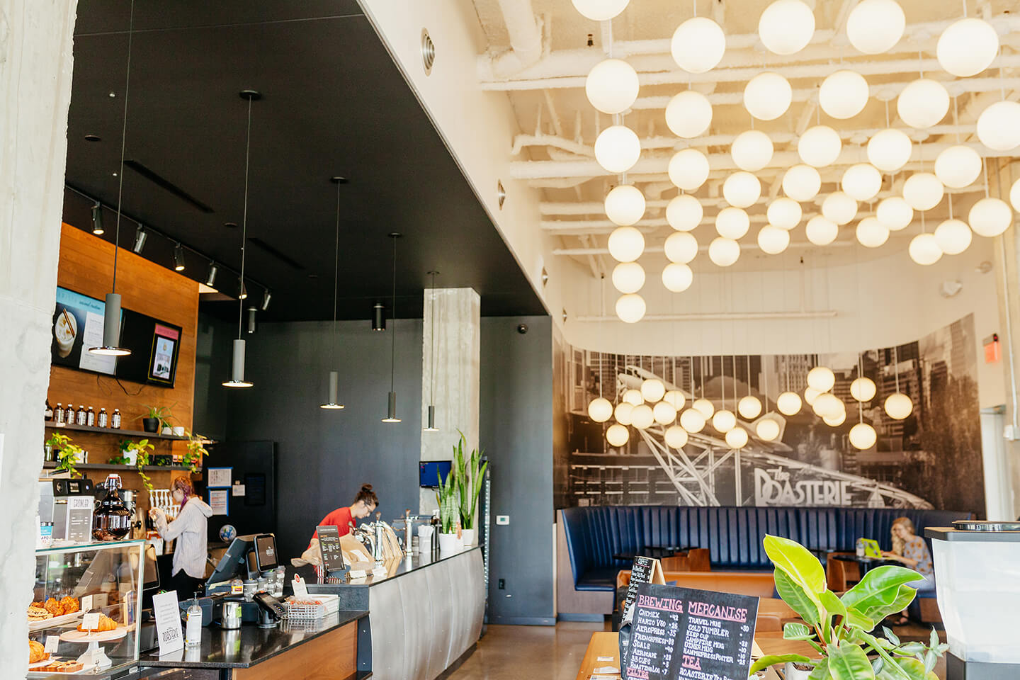
[[[630,566],[614,555],[641,554],[649,545],[707,547],[713,569],[770,569],[765,534],[792,538],[811,551],[853,551],[858,538],[891,547],[889,531],[909,517],[924,535],[927,526],[949,526],[968,513],[886,508],[697,508],[601,506],[561,511],[574,583],[585,572]]]

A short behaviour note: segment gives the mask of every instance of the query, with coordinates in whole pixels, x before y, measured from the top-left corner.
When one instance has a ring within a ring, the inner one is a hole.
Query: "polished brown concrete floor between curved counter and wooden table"
[[[610,629],[608,622],[489,626],[474,653],[448,680],[574,680],[592,633]],[[929,629],[911,623],[895,630],[906,641],[927,639]],[[945,678],[945,669],[940,659],[935,674]]]

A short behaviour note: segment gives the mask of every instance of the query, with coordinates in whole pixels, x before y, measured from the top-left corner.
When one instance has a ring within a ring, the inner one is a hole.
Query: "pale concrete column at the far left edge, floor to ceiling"
[[[75,0],[0,2],[0,659],[23,678]]]

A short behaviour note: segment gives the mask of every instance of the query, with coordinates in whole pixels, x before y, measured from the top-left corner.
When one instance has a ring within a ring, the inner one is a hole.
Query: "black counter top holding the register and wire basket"
[[[202,629],[198,647],[162,657],[142,655],[139,663],[154,668],[249,668],[367,616],[365,611],[341,611],[317,623],[285,621],[274,628],[245,624],[237,630],[214,624]]]

